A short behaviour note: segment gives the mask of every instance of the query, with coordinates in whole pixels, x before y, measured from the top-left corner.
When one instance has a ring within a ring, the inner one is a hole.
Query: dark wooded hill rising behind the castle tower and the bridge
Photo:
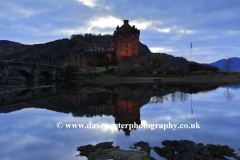
[[[11,41],[0,41],[0,61],[18,61],[62,65],[70,61],[71,54],[79,52],[82,47],[110,47],[112,35],[72,35],[71,39],[60,39],[52,42],[23,45]],[[4,46],[4,50],[1,50]],[[6,49],[8,48],[8,49]],[[145,56],[150,52],[148,47],[139,42],[139,54]]]

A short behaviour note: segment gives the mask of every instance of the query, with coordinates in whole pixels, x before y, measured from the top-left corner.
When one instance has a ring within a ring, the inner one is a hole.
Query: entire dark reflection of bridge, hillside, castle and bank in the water
[[[55,86],[0,94],[0,113],[24,108],[44,108],[74,117],[113,116],[116,124],[141,124],[140,108],[164,100],[187,100],[189,94],[216,89],[217,85],[137,84],[112,86]],[[227,88],[228,89],[228,88]],[[16,92],[16,93],[15,93]],[[129,136],[131,130],[121,129]],[[136,129],[136,128],[133,128]]]

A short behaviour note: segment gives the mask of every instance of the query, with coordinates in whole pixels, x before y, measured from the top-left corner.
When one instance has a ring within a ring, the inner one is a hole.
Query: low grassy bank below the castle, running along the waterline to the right
[[[140,73],[130,73],[119,76],[114,73],[114,66],[96,67],[93,70],[81,69],[78,79],[87,83],[159,83],[159,82],[191,82],[191,83],[240,83],[240,72],[227,72],[219,70],[174,72],[156,69],[142,69]],[[89,71],[90,70],[90,71]]]

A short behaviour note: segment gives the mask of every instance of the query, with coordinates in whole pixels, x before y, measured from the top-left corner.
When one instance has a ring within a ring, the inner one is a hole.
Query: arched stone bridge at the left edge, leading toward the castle
[[[59,66],[25,62],[0,62],[1,80],[7,79],[10,73],[14,71],[21,73],[28,81],[38,81],[39,78],[58,80],[61,76]]]

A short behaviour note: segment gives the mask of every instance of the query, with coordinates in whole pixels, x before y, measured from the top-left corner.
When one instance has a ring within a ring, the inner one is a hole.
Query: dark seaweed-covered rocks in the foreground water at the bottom
[[[240,160],[240,156],[234,153],[235,150],[227,145],[196,144],[189,140],[165,140],[162,141],[164,147],[150,147],[149,143],[140,141],[129,147],[132,150],[121,150],[119,146],[114,147],[112,144],[113,142],[103,142],[95,146],[80,146],[77,148],[80,152],[77,156],[85,156],[89,160],[155,160],[150,156],[152,149],[167,160],[228,160],[229,157]],[[137,150],[138,147],[140,150]]]

